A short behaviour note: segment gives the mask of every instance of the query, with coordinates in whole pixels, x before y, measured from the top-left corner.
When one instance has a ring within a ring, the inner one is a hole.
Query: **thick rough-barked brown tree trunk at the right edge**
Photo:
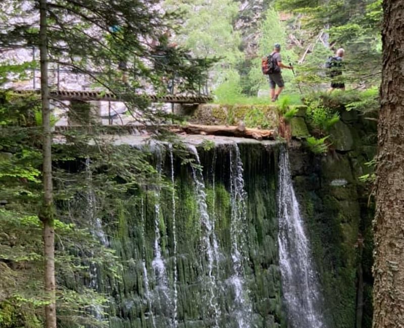
[[[384,0],[373,328],[404,327],[404,0]]]

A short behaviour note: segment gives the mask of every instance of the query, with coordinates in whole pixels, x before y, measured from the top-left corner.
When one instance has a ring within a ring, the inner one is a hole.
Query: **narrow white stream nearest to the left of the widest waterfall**
[[[240,158],[240,151],[237,144],[234,144],[234,153],[230,150],[230,194],[231,194],[231,257],[233,260],[233,276],[230,283],[235,294],[235,314],[238,326],[248,328],[250,326],[250,315],[252,312],[248,293],[245,288],[243,261],[246,244],[246,192],[244,190],[243,167]]]

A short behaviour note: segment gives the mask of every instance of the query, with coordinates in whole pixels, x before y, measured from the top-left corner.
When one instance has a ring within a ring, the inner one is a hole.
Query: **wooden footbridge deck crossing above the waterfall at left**
[[[35,90],[14,90],[16,93],[40,93],[39,89]],[[199,104],[212,101],[211,96],[196,94],[196,95],[181,95],[181,94],[167,94],[167,95],[149,95],[149,94],[136,94],[130,92],[112,93],[105,91],[75,91],[75,90],[53,90],[49,91],[52,98],[58,100],[79,100],[79,101],[122,101],[125,102],[136,97],[148,98],[151,102],[166,102],[166,103],[180,103],[180,104]]]

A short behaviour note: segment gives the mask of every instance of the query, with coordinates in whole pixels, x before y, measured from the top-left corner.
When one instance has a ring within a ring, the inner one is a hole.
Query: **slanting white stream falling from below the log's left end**
[[[200,166],[200,159],[195,146],[189,146],[191,152],[194,154],[196,164]],[[215,230],[213,229],[212,221],[208,213],[208,205],[206,202],[205,183],[202,173],[191,165],[192,176],[196,187],[196,197],[200,214],[200,225],[202,231],[202,244],[204,252],[208,260],[208,288],[210,293],[209,306],[213,310],[213,318],[215,320],[215,327],[219,327],[220,308],[217,301],[217,277],[213,274],[214,265],[219,262],[219,244],[216,238]]]

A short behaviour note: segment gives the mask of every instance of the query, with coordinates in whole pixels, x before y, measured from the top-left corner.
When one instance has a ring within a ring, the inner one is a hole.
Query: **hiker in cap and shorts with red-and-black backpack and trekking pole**
[[[283,82],[281,68],[292,70],[292,66],[282,64],[281,46],[279,43],[274,44],[274,51],[262,60],[262,72],[268,75],[269,86],[271,88],[271,101],[278,100],[279,94],[282,92],[285,83]],[[278,89],[275,90],[276,85]]]

